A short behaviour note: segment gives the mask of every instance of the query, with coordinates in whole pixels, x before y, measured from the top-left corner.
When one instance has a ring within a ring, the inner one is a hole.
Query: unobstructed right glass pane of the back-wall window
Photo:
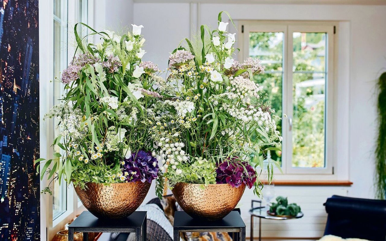
[[[292,167],[325,167],[325,33],[293,33]]]

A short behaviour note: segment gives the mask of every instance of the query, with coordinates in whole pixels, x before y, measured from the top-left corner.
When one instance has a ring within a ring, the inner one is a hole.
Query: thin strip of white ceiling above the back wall
[[[256,3],[386,5],[386,0],[134,0],[138,3]]]

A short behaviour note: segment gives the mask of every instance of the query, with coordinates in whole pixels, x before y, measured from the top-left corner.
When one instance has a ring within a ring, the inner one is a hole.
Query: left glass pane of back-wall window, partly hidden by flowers
[[[267,104],[272,106],[276,115],[282,116],[283,32],[250,32],[249,56],[260,59],[266,66],[266,72],[254,76],[254,81],[264,86]],[[276,125],[282,135],[281,120],[278,120]],[[266,158],[281,163],[281,152],[266,151],[264,154]]]

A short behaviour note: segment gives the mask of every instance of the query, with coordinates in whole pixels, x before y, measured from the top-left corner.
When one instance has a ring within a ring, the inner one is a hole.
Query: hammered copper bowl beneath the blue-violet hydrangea
[[[75,187],[83,205],[95,217],[120,219],[130,216],[144,201],[149,182],[126,182],[103,185],[88,182],[86,189]]]

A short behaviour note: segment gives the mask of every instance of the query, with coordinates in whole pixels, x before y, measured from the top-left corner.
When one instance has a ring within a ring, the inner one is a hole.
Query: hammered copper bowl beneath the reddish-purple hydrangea
[[[244,194],[245,184],[231,187],[229,184],[209,184],[202,189],[201,184],[177,183],[173,195],[179,206],[191,217],[210,221],[227,216],[239,203]]]

